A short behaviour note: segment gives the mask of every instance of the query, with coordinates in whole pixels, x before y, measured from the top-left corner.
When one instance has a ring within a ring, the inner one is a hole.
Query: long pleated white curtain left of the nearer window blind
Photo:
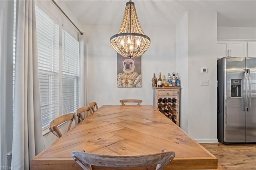
[[[18,0],[12,167],[28,170],[44,149],[40,109],[34,0]]]

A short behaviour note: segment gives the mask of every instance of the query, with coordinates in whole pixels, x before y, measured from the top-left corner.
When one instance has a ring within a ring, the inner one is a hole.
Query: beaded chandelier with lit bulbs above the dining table
[[[150,38],[140,27],[134,2],[126,3],[124,18],[118,33],[110,38],[112,47],[124,57],[140,57],[150,46]]]

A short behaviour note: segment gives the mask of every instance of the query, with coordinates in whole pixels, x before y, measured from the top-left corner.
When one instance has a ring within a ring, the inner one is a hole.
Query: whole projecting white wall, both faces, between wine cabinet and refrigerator
[[[176,67],[181,76],[180,126],[198,142],[217,142],[216,12],[187,12],[176,25]],[[208,73],[200,73],[200,68]],[[200,80],[209,80],[201,86]]]

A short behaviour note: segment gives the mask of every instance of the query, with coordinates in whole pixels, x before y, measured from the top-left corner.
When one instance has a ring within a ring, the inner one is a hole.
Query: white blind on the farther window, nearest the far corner
[[[62,115],[79,107],[79,43],[62,29]]]

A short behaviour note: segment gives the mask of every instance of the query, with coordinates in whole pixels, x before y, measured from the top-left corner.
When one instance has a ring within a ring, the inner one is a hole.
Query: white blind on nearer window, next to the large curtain
[[[36,6],[42,128],[59,116],[59,28]]]

